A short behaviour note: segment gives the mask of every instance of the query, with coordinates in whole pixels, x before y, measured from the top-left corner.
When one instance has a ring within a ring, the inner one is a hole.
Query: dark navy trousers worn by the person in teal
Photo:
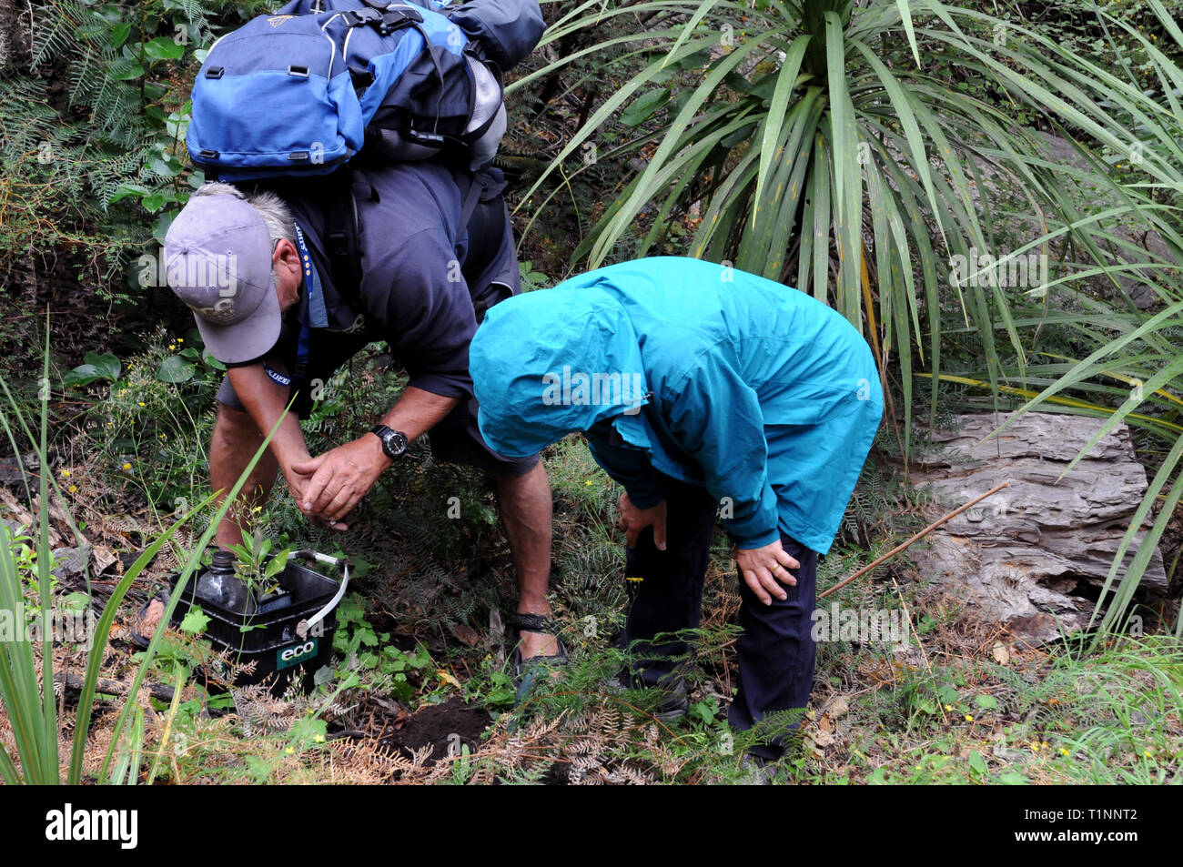
[[[704,487],[668,477],[662,481],[666,550],[657,549],[653,531],[647,528],[638,537],[636,548],[627,551],[629,608],[620,643],[623,649],[631,648],[629,674],[635,685],[671,688],[692,664],[693,648],[684,640],[660,635],[699,626],[718,504]],[[781,544],[801,563],[800,569],[790,570],[796,587],[784,585],[788,599],[782,602],[774,596],[772,604],[765,606],[739,576],[739,690],[728,714],[733,729],[751,729],[768,714],[804,709],[809,700],[816,651],[810,633],[817,552],[783,532]],[[781,740],[776,737],[749,751],[777,758],[783,750]]]

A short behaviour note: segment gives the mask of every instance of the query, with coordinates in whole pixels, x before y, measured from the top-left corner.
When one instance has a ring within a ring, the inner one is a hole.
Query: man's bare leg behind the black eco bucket
[[[221,504],[245,471],[251,458],[263,445],[263,434],[258,426],[241,409],[231,409],[224,403],[218,405],[218,419],[214,421],[214,433],[209,441],[209,484],[218,494],[218,503]],[[244,483],[239,492],[239,504],[251,507],[260,505],[267,499],[272,486],[276,484],[276,473],[279,462],[271,449],[264,452],[250,478]],[[549,490],[549,487],[548,487]],[[243,544],[243,528],[237,520],[238,510],[231,507],[218,524],[214,531],[214,541],[220,548]],[[155,627],[164,613],[164,606],[159,600],[153,600],[144,613],[144,627]]]

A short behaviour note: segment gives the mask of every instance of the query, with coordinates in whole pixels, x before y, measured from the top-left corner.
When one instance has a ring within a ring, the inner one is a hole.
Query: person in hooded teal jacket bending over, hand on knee
[[[780,283],[655,257],[498,304],[473,337],[470,371],[494,451],[535,454],[583,432],[623,485],[629,679],[662,687],[667,716],[685,709],[689,648],[659,635],[698,626],[718,515],[743,601],[729,719],[751,729],[803,709],[816,558],[883,415],[859,331]],[[750,752],[776,758],[780,737]]]

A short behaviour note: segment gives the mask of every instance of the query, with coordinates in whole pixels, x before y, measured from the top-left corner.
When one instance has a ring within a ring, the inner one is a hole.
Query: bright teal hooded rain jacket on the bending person
[[[826,554],[883,415],[874,358],[842,316],[699,259],[509,298],[468,369],[493,449],[529,455],[582,431],[638,507],[662,499],[658,472],[703,485],[743,549],[784,532]]]

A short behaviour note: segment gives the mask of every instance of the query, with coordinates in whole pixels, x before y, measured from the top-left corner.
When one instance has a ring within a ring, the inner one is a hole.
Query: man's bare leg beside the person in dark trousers
[[[497,504],[518,577],[518,614],[550,614],[550,479],[542,461],[522,475],[494,475]],[[522,633],[522,659],[558,653],[554,635]]]

